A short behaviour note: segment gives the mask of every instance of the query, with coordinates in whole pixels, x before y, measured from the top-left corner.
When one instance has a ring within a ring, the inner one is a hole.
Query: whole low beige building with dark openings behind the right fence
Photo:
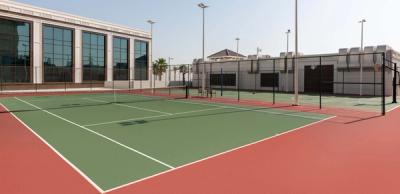
[[[385,71],[385,93],[392,95],[394,71],[389,68],[400,62],[400,55],[387,45],[365,47],[363,52],[360,48],[345,48],[338,53],[299,56],[299,91],[318,93],[321,83],[325,94],[379,96],[383,81],[382,54],[385,54],[388,67]],[[196,60],[193,64],[194,87],[201,85],[202,65]],[[205,65],[208,88],[219,89],[222,85],[225,89],[239,87],[241,90],[293,92],[293,53],[239,61],[210,60]]]

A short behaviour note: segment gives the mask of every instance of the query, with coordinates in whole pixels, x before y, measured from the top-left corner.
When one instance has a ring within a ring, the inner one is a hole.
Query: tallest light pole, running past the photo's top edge
[[[294,58],[294,105],[299,105],[299,30],[298,30],[298,4],[297,0],[295,0],[295,58]]]

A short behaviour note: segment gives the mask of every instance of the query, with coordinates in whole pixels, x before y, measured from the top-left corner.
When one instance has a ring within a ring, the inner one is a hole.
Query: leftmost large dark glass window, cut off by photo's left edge
[[[0,81],[30,82],[30,24],[0,18]]]

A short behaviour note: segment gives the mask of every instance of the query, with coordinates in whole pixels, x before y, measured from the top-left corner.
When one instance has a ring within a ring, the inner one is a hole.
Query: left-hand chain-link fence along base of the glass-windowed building
[[[191,85],[191,71],[191,65],[168,66],[162,72],[118,67],[0,66],[0,93],[168,90]]]

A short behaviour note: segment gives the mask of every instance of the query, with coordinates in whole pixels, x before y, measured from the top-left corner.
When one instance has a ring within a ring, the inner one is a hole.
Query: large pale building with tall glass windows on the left
[[[151,34],[0,0],[0,81],[5,84],[150,86]]]

